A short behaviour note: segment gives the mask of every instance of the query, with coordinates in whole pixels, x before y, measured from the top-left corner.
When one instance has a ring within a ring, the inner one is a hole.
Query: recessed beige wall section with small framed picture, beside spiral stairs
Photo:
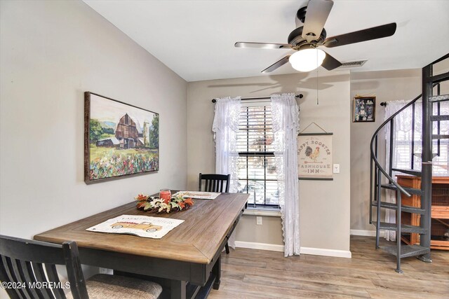
[[[376,96],[375,122],[351,123],[351,230],[375,230],[369,224],[370,141],[384,122],[385,108],[380,103],[414,99],[420,94],[421,69],[351,73],[351,97]],[[378,142],[380,161],[384,165],[384,134],[380,134]]]

